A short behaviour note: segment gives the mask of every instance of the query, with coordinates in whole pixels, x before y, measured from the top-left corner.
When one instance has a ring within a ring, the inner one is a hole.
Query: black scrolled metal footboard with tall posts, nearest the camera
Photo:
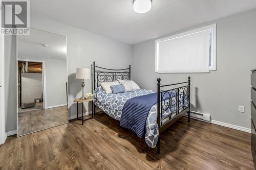
[[[181,116],[185,113],[188,114],[188,122],[190,122],[190,77],[188,81],[161,85],[161,79],[157,79],[157,123],[158,123],[158,143],[157,143],[157,153],[160,154],[160,134],[173,125]],[[185,85],[187,84],[187,85]],[[173,87],[169,90],[161,90],[161,87]],[[170,114],[168,120],[163,123],[163,111],[169,109]]]

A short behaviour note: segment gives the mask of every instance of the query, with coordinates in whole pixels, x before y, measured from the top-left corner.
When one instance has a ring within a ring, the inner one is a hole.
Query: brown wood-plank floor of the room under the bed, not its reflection
[[[0,147],[0,169],[254,169],[250,134],[182,117],[161,134],[161,153],[106,114]]]

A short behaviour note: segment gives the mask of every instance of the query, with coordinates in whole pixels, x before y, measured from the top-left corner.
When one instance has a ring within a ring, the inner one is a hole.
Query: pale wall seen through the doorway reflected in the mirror
[[[34,99],[41,98],[42,74],[22,73],[22,104],[34,103]]]

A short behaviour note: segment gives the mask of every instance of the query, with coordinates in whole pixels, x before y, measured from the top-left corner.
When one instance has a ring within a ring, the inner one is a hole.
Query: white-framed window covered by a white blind
[[[216,24],[156,40],[156,72],[216,70]]]

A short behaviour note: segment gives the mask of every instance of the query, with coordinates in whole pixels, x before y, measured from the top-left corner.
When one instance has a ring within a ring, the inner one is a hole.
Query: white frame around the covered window
[[[194,30],[186,31],[180,34],[175,34],[172,36],[164,37],[161,39],[157,39],[155,41],[155,72],[158,72],[158,51],[159,51],[159,43],[162,41],[167,41],[170,39],[175,39],[179,37],[183,37],[189,34],[195,34],[205,30],[212,30],[212,39],[211,39],[211,67],[209,66],[209,71],[216,71],[216,23],[204,27],[200,27]],[[159,72],[159,73],[174,73],[174,72]],[[184,72],[182,72],[184,73]]]

